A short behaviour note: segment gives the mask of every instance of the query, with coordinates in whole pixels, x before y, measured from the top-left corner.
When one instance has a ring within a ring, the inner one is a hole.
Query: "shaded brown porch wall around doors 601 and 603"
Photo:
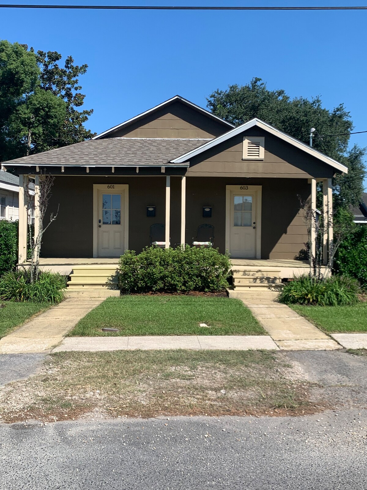
[[[129,248],[140,252],[149,245],[149,227],[165,221],[165,176],[96,177],[57,176],[49,211],[59,205],[57,220],[46,230],[43,257],[84,258],[93,255],[93,184],[129,185]],[[298,195],[310,195],[306,179],[246,179],[228,177],[186,178],[186,243],[197,227],[215,227],[214,245],[225,252],[226,185],[262,185],[262,259],[293,259],[307,241],[299,213]],[[156,217],[146,217],[146,207],[156,206]],[[203,218],[203,206],[212,206],[212,217]],[[171,245],[180,243],[181,177],[171,177]]]

